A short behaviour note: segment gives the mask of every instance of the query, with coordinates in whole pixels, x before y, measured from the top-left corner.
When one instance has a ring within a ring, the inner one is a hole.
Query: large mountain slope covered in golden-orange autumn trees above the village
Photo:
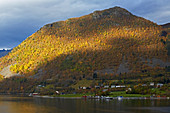
[[[154,75],[170,66],[161,30],[120,7],[95,11],[45,25],[1,58],[0,70],[37,79]]]

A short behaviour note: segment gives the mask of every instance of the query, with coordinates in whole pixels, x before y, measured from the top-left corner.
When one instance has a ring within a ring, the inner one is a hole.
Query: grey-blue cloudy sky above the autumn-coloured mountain
[[[0,49],[17,46],[47,23],[114,6],[157,24],[170,22],[169,0],[0,0]]]

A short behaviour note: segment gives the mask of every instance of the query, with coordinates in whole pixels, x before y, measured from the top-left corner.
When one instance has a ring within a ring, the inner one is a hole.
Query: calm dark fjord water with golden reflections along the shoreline
[[[0,113],[169,113],[170,100],[85,100],[0,96]]]

